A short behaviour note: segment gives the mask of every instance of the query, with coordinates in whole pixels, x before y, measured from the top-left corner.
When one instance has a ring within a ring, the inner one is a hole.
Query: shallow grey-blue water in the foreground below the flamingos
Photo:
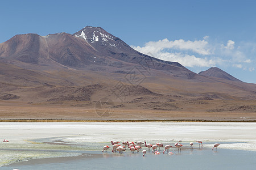
[[[83,154],[96,154],[98,156],[79,156],[73,159],[40,162],[20,162],[1,169],[255,169],[256,152],[242,150],[226,150],[211,148],[193,150],[184,148],[178,152],[171,148],[174,155],[154,155],[152,152],[142,156],[142,153],[123,154],[101,151],[81,151]]]

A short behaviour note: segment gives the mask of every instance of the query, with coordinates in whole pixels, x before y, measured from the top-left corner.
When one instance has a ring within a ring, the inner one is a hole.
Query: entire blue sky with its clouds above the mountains
[[[199,73],[256,83],[256,1],[3,1],[0,43],[17,34],[102,27],[133,48]]]

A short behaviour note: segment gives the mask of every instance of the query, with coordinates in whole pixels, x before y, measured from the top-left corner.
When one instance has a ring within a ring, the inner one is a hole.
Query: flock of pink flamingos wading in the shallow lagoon
[[[177,143],[174,144],[174,146],[177,148],[178,151],[181,151],[181,147],[183,145],[181,145],[182,141],[178,141]],[[196,141],[197,143],[199,143],[199,147],[203,147],[203,142],[202,141]],[[119,145],[121,144],[121,142],[117,142],[117,141],[111,141],[111,144],[112,144],[112,152],[119,152],[119,154],[122,154],[123,151],[126,150],[126,147],[129,148],[129,150],[131,152],[134,153],[134,151],[137,151],[139,152],[140,150],[142,150],[142,145],[144,144],[145,147],[148,148],[148,152],[150,152],[150,148],[152,148],[152,153],[153,154],[160,154],[160,147],[164,147],[164,151],[163,151],[163,154],[164,152],[167,151],[168,154],[174,154],[172,152],[169,151],[169,149],[172,147],[171,145],[166,145],[166,146],[163,146],[162,143],[156,143],[155,145],[151,145],[150,143],[147,143],[146,141],[142,142],[142,141],[138,141],[138,142],[122,142],[122,145]],[[189,143],[191,149],[193,149],[193,142],[190,142]],[[213,145],[213,148],[212,150],[215,149],[217,150],[217,147],[219,146],[220,144],[218,143],[215,143]],[[106,152],[110,147],[108,145],[105,145],[103,147],[103,150],[102,152]],[[158,150],[159,148],[159,150]],[[147,153],[146,150],[142,150],[142,153],[143,153],[143,156],[145,156],[145,154]]]

